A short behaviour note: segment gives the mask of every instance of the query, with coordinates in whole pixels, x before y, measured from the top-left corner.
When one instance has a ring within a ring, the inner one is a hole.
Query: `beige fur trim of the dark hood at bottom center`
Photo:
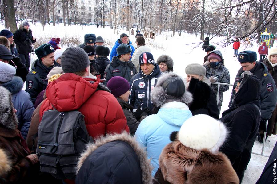
[[[152,168],[150,166],[150,161],[147,159],[146,152],[143,150],[143,148],[139,147],[139,144],[136,142],[136,140],[133,137],[131,137],[130,134],[128,134],[127,132],[123,132],[121,134],[108,134],[105,137],[102,136],[99,139],[95,140],[95,143],[88,144],[86,150],[81,154],[81,157],[78,160],[76,174],[78,174],[78,171],[81,168],[82,164],[93,151],[95,151],[103,144],[112,142],[114,140],[122,140],[130,144],[130,146],[134,149],[135,153],[138,155],[140,167],[142,170],[143,183],[152,183]]]

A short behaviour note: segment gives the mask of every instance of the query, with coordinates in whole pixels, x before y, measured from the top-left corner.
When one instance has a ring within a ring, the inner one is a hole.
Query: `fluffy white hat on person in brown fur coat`
[[[186,147],[216,153],[227,136],[225,125],[208,115],[199,114],[183,123],[179,131],[179,141]]]

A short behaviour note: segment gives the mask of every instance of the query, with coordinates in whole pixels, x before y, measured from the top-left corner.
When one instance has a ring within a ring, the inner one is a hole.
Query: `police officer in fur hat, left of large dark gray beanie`
[[[26,77],[26,91],[30,94],[33,103],[38,94],[47,87],[47,75],[55,67],[54,51],[51,44],[42,44],[35,49],[38,59],[34,61],[32,70]]]

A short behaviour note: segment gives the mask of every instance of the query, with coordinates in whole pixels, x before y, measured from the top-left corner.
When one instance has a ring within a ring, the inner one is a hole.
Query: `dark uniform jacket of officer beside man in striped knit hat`
[[[107,85],[110,78],[120,76],[130,82],[131,78],[137,73],[136,67],[132,61],[120,61],[118,56],[114,56],[112,62],[106,67],[104,72],[104,82]]]

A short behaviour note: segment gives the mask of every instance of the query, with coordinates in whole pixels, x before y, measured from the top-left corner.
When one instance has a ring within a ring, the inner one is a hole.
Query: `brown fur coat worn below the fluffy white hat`
[[[159,158],[160,168],[155,175],[157,183],[239,183],[231,162],[223,153],[188,148],[177,139],[177,136],[171,136],[171,140],[173,142],[167,144]]]

